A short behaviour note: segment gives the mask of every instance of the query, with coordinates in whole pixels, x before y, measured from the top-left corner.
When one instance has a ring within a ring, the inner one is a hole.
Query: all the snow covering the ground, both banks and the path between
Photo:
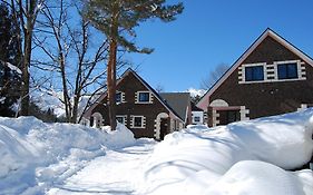
[[[313,109],[165,140],[81,125],[0,118],[0,195],[313,195]]]

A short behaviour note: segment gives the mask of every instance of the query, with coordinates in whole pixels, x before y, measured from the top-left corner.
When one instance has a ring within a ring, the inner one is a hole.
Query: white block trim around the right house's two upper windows
[[[297,65],[297,78],[292,79],[278,79],[278,65],[285,64],[296,64]],[[261,84],[261,82],[282,82],[282,81],[296,81],[296,80],[306,80],[305,67],[302,66],[305,62],[301,60],[285,60],[285,61],[274,61],[272,65],[266,65],[266,62],[257,62],[257,64],[244,64],[238,68],[238,84]],[[254,67],[254,66],[263,66],[264,70],[264,80],[255,80],[255,81],[245,81],[245,67]],[[274,67],[268,69],[268,67]],[[274,74],[268,74],[273,72]],[[274,77],[268,79],[268,77]]]

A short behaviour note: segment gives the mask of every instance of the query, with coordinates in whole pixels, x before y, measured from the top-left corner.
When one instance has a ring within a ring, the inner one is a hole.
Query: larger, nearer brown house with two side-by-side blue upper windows
[[[313,105],[313,60],[266,29],[203,96],[208,126],[296,111]]]

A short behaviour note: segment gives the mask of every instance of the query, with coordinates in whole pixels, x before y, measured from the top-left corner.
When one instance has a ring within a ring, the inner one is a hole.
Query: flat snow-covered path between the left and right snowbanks
[[[140,139],[135,146],[110,150],[97,157],[84,169],[48,192],[61,194],[134,194],[139,172],[155,142]]]

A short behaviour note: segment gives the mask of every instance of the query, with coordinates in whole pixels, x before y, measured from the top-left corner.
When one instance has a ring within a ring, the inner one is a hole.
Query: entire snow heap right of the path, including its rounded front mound
[[[167,135],[145,165],[141,193],[312,194],[311,170],[284,170],[311,159],[312,116],[309,109]]]

